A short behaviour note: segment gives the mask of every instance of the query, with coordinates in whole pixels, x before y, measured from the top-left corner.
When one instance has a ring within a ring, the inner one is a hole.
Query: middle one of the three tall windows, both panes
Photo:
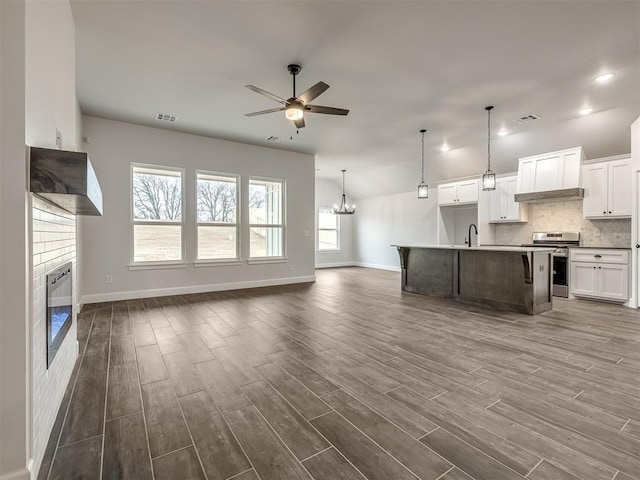
[[[238,177],[196,174],[198,260],[237,260]]]

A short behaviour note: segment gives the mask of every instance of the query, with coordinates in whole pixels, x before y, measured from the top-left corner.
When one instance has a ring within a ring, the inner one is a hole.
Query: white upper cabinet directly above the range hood
[[[516,193],[578,188],[582,160],[581,147],[521,158]]]

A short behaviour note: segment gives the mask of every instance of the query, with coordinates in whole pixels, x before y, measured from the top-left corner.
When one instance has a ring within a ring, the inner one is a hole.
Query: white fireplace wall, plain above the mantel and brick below
[[[25,139],[29,146],[78,149],[79,125],[75,82],[75,25],[66,0],[26,3]],[[76,219],[33,197],[31,224],[31,477],[35,478],[77,356],[76,319],[58,354],[46,364],[46,274],[74,262],[74,304],[77,303]],[[77,313],[77,312],[75,312]]]

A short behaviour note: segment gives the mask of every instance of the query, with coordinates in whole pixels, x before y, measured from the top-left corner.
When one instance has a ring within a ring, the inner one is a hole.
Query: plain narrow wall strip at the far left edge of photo
[[[0,479],[29,478],[25,5],[0,1]]]

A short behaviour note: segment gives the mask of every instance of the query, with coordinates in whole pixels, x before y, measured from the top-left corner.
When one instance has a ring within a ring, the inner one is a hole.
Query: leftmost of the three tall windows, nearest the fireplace
[[[133,263],[184,260],[183,170],[132,165]]]

